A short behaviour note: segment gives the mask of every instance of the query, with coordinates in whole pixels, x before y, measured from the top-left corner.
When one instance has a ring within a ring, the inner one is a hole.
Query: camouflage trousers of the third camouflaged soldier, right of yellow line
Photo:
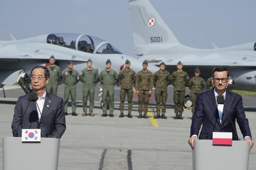
[[[162,98],[162,102],[161,102],[161,98]],[[165,114],[166,99],[167,99],[167,89],[165,91],[155,90],[157,114],[160,114],[161,103],[162,103],[162,114]]]

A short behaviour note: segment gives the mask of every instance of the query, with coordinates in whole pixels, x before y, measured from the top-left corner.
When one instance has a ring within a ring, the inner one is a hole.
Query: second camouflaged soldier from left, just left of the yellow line
[[[153,74],[147,70],[147,60],[143,61],[142,63],[143,69],[139,71],[136,76],[136,94],[138,95],[139,100],[139,117],[142,118],[142,111],[144,111],[143,118],[147,118],[147,109],[149,104],[150,95],[152,93],[153,87]],[[144,107],[143,107],[144,105]]]

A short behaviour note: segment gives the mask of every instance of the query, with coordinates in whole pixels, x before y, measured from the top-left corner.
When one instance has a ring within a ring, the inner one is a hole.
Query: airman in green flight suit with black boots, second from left
[[[79,76],[77,70],[73,69],[73,62],[69,61],[67,63],[68,69],[64,71],[62,82],[65,84],[64,91],[64,113],[67,115],[67,106],[69,100],[69,94],[71,96],[71,107],[72,107],[72,115],[77,116],[75,110],[77,109],[76,103],[76,84],[78,83]]]

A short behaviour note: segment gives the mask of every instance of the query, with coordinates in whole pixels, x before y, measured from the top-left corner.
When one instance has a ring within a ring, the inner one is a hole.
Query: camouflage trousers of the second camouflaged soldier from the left
[[[139,90],[139,95],[138,95],[138,100],[139,100],[138,111],[139,111],[139,114],[142,114],[142,111],[144,111],[144,114],[147,114],[149,99],[150,99],[149,90]]]

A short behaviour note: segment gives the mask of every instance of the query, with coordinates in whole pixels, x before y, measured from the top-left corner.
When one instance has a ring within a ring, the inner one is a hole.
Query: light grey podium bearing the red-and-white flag
[[[195,140],[193,170],[248,169],[249,150],[247,141],[232,141],[232,146],[213,146],[213,140]]]

